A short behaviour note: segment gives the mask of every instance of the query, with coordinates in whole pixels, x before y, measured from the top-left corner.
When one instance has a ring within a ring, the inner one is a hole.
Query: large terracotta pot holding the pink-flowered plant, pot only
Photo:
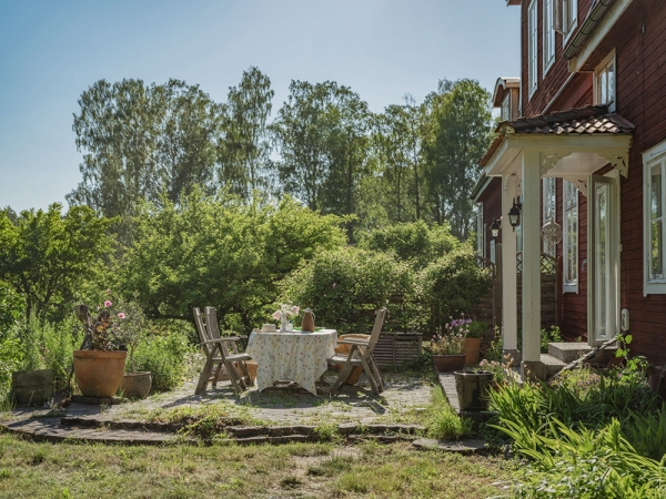
[[[74,376],[85,397],[113,397],[124,375],[127,352],[74,350]]]

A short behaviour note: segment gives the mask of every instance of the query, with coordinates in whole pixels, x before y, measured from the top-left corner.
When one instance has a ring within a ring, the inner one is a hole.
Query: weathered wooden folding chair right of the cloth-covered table
[[[351,338],[337,342],[341,345],[351,345],[352,348],[349,354],[335,354],[329,359],[329,365],[331,366],[343,366],[337,375],[335,384],[331,388],[332,394],[336,393],[344,384],[353,367],[363,367],[363,371],[365,373],[365,376],[367,376],[372,391],[375,395],[380,395],[384,391],[384,380],[382,379],[377,363],[372,356],[372,350],[380,338],[385,316],[386,308],[377,310],[375,324],[369,339]]]

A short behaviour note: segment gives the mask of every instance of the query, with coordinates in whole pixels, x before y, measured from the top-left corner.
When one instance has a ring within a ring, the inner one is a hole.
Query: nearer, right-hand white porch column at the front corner
[[[523,361],[541,360],[541,164],[523,151]]]

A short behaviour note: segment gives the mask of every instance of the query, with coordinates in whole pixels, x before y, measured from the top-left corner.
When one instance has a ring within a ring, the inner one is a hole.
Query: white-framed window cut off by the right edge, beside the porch
[[[653,278],[652,277],[652,210],[650,210],[650,198],[652,198],[652,170],[654,167],[660,169],[662,173],[662,216],[659,217],[659,222],[662,222],[662,277]],[[666,141],[655,145],[652,149],[648,149],[643,153],[643,267],[644,267],[644,279],[643,279],[643,294],[647,295],[663,295],[666,294],[666,246],[664,243],[666,242],[666,205],[664,202],[666,201]]]

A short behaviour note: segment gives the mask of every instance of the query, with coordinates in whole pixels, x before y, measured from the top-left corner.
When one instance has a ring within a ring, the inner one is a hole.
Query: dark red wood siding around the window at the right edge
[[[633,353],[663,365],[666,295],[643,296],[642,153],[666,140],[666,4],[655,0],[638,3],[605,42],[616,47],[617,111],[636,125],[629,175],[620,180],[620,303],[630,312]]]

